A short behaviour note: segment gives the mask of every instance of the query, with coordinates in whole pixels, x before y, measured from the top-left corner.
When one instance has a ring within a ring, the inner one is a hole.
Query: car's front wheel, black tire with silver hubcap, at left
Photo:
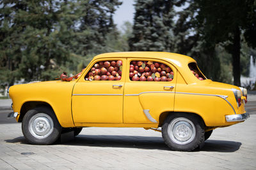
[[[61,134],[61,125],[48,107],[29,110],[22,120],[22,133],[31,144],[51,145]]]

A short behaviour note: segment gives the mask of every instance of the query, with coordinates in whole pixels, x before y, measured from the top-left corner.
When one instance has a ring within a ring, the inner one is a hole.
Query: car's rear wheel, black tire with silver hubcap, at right
[[[173,113],[164,120],[162,136],[171,150],[195,150],[204,145],[204,123],[191,113]]]

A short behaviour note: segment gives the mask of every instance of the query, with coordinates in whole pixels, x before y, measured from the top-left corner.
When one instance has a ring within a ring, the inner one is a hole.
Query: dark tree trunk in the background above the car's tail
[[[234,39],[232,46],[232,65],[233,65],[233,76],[234,76],[234,85],[241,86],[240,81],[240,29],[236,26],[234,31]]]

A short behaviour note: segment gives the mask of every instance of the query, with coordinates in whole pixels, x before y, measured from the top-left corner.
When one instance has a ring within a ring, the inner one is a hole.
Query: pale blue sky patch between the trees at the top
[[[118,29],[121,29],[121,25],[125,21],[133,22],[133,15],[135,13],[134,0],[123,0],[123,4],[117,8],[115,15],[113,16],[114,22],[117,25]]]

